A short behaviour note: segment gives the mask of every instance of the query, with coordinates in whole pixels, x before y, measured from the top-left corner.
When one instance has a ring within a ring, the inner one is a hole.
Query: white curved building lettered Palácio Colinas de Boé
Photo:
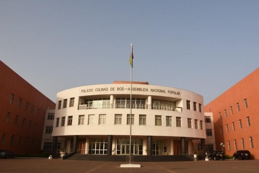
[[[66,138],[67,152],[129,154],[130,83],[80,86],[57,93],[52,136]],[[183,89],[132,84],[132,153],[191,154],[204,148],[203,96]]]

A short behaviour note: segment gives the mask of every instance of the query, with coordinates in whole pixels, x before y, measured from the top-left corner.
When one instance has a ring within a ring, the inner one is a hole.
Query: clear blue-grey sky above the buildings
[[[259,1],[0,0],[0,59],[56,102],[64,89],[130,80],[209,103],[259,64]]]

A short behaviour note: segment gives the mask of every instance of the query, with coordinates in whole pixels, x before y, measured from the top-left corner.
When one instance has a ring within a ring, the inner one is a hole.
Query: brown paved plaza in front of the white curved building
[[[120,168],[121,163],[61,159],[0,159],[0,172],[259,172],[259,160],[138,162],[141,168]]]

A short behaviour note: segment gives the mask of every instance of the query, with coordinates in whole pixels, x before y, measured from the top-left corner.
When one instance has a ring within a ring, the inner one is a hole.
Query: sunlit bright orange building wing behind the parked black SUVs
[[[204,106],[213,112],[216,149],[232,156],[249,150],[259,159],[259,68]]]

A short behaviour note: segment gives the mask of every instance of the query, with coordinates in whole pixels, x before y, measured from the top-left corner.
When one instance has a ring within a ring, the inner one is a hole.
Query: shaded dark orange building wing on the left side
[[[38,153],[47,108],[55,103],[0,61],[0,149]]]

